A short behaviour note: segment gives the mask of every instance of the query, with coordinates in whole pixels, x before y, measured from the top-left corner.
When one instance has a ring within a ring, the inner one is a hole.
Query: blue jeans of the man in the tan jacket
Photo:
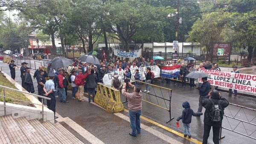
[[[138,110],[138,111],[129,110],[130,126],[131,126],[133,135],[137,135],[137,132],[138,133],[141,132],[140,115],[141,115],[141,110]],[[137,130],[137,132],[136,132],[136,130]]]

